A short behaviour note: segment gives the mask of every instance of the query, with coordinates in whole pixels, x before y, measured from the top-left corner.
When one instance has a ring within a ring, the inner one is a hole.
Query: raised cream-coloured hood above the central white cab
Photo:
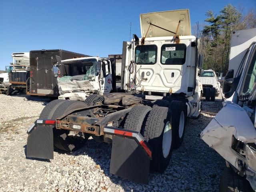
[[[172,32],[176,32],[179,20],[180,26],[177,35],[191,35],[190,15],[188,9],[140,14],[141,36],[145,37],[150,23]],[[147,37],[150,36],[162,37],[174,36],[174,34],[156,26],[150,26]]]

